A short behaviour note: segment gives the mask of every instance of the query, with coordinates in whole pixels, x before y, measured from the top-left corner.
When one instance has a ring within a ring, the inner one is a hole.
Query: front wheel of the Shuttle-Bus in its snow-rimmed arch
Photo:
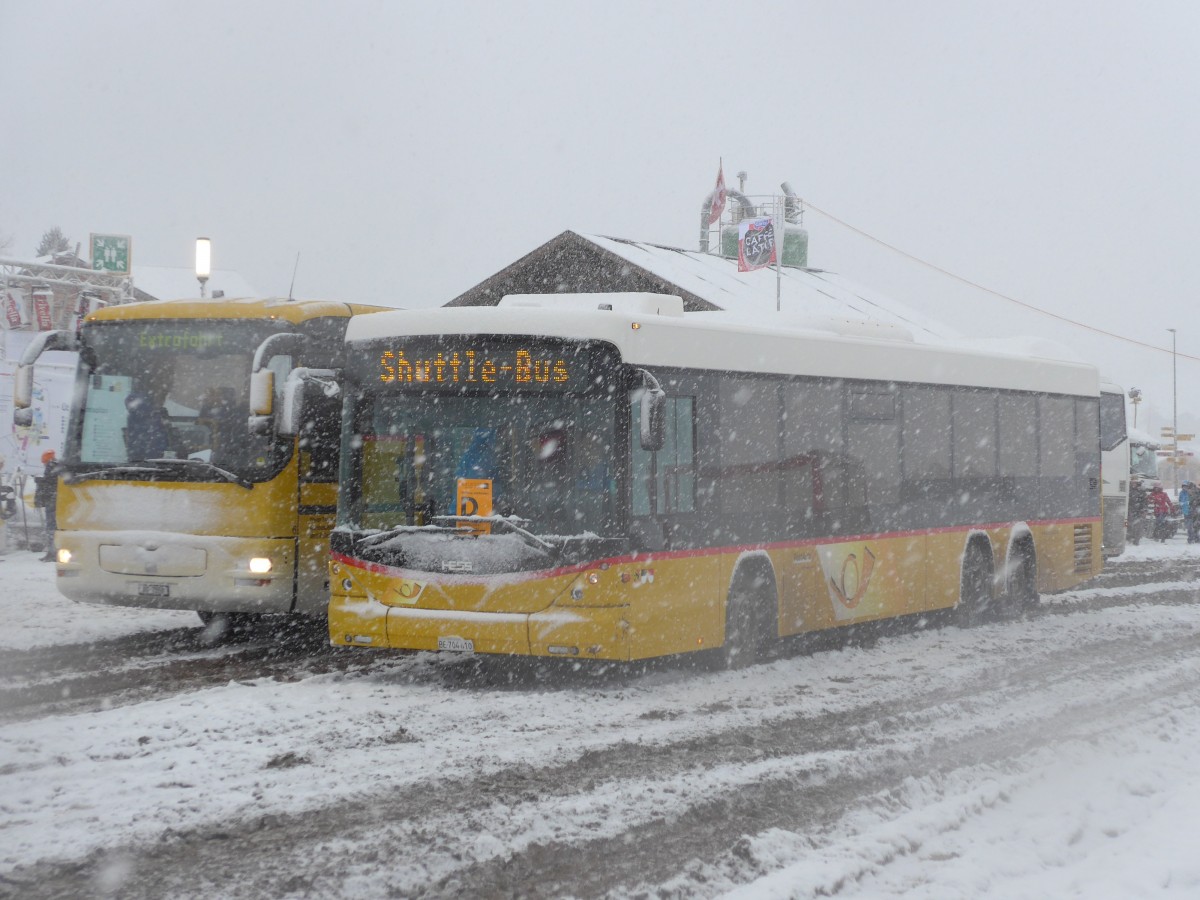
[[[744,553],[733,566],[725,600],[724,668],[760,662],[779,638],[779,587],[764,551]]]

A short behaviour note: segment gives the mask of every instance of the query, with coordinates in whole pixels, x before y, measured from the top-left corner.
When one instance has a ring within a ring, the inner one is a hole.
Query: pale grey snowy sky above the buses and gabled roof
[[[1200,6],[0,5],[0,233],[132,234],[260,290],[442,304],[564,228],[695,248],[718,158],[1058,314],[1200,356]],[[1052,323],[817,214],[810,264],[1146,391],[1169,354]],[[1180,409],[1200,362],[1180,360]],[[1200,424],[1200,419],[1196,419]]]

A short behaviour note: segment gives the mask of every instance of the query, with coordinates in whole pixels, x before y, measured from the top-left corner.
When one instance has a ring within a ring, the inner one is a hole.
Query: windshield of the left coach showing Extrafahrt
[[[288,444],[251,434],[254,349],[278,326],[248,320],[95,323],[82,335],[78,420],[66,462],[77,472],[132,463],[188,478],[271,478]],[[271,361],[277,383],[290,366]],[[181,461],[181,462],[175,462]],[[132,474],[132,473],[131,473]]]

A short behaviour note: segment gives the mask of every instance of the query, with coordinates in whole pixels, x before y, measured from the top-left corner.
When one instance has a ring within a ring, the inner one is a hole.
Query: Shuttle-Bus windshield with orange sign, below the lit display
[[[343,454],[343,490],[354,488],[340,524],[456,527],[439,517],[490,512],[544,538],[614,536],[616,409],[608,397],[546,392],[367,395]],[[464,481],[490,482],[490,511],[458,506]]]

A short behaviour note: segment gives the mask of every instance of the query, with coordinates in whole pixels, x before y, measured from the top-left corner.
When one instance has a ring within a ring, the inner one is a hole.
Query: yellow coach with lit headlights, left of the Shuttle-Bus
[[[37,356],[79,354],[60,461],[59,590],[227,624],[323,616],[337,494],[334,378],[347,323],[378,308],[151,301],[40,336],[18,368],[18,419]],[[300,392],[312,395],[302,427],[276,427],[278,401]]]

